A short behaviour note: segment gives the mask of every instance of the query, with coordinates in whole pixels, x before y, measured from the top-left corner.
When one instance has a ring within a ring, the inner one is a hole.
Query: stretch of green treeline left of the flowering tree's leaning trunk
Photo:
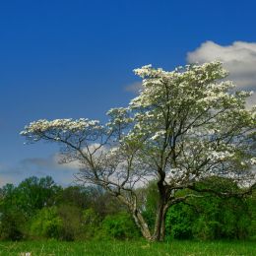
[[[0,189],[0,239],[85,240],[133,237],[139,231],[115,198],[98,187],[57,185],[30,177]]]

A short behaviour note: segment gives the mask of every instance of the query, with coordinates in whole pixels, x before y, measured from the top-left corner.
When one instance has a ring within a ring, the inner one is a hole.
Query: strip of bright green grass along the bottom
[[[256,242],[253,241],[171,241],[165,243],[148,243],[146,241],[88,241],[56,242],[26,241],[1,242],[0,255],[21,255],[31,252],[40,255],[256,255]]]

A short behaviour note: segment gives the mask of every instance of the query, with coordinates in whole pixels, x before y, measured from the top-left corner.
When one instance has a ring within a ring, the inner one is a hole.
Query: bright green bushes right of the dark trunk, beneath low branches
[[[251,224],[246,202],[207,195],[172,206],[166,215],[166,235],[175,239],[244,239]]]

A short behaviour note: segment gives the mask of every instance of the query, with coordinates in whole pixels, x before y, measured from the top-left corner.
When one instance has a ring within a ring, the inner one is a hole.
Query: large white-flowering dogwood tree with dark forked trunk
[[[139,96],[125,108],[110,109],[106,124],[38,120],[21,134],[29,142],[60,144],[63,161],[79,162],[80,181],[109,191],[128,207],[144,237],[162,240],[168,208],[195,196],[178,196],[179,190],[210,192],[195,185],[209,176],[253,185],[256,108],[245,108],[250,93],[235,91],[220,62],[172,72],[148,65],[135,74],[143,78]],[[159,193],[154,230],[143,218],[136,189],[149,182],[157,183]]]

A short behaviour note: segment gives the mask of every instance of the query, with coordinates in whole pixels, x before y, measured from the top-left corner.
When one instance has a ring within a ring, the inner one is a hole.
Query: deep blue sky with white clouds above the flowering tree
[[[0,185],[46,174],[72,182],[54,145],[25,146],[19,132],[39,118],[104,120],[134,96],[134,68],[219,57],[254,89],[255,10],[253,0],[0,1]]]

